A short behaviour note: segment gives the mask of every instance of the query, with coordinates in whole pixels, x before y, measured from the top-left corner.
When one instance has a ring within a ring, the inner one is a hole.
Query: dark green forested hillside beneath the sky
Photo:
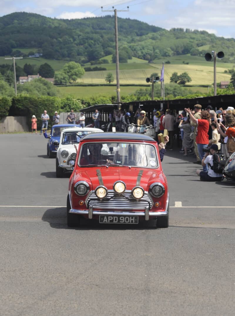
[[[121,62],[131,56],[149,61],[184,54],[204,56],[212,49],[225,52],[224,62],[235,62],[235,40],[206,31],[167,31],[118,18],[118,35]],[[115,52],[114,18],[60,20],[25,12],[1,17],[0,56],[14,54],[20,48],[34,48],[34,52],[48,59],[82,64],[95,61]]]

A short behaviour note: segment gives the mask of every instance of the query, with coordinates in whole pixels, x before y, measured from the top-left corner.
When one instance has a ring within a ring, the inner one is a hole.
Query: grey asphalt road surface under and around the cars
[[[234,315],[235,183],[168,151],[169,228],[67,228],[46,143],[0,135],[0,315]]]

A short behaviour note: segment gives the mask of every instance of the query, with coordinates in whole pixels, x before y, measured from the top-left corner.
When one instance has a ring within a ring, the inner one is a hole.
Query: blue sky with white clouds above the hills
[[[102,12],[112,10],[127,10],[118,12],[122,18],[137,19],[150,25],[170,29],[182,27],[206,30],[216,36],[235,38],[235,0],[0,0],[1,13],[31,12],[56,17],[73,19],[112,14]]]

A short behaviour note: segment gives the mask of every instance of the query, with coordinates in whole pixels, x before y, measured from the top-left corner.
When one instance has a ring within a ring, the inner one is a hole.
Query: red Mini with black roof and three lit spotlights
[[[69,180],[67,225],[169,223],[169,193],[157,142],[135,133],[92,133],[80,140]]]

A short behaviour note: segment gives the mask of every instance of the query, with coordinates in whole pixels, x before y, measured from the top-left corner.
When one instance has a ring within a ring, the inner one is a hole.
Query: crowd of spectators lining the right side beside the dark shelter
[[[157,135],[167,129],[169,142],[166,148],[172,150],[181,144],[183,156],[194,155],[194,163],[203,167],[203,170],[196,171],[202,181],[222,179],[223,175],[211,168],[214,153],[223,153],[228,158],[235,152],[235,110],[230,106],[226,110],[220,108],[215,111],[210,105],[203,109],[200,104],[195,104],[193,110],[185,108],[180,114],[171,109],[165,112],[154,110],[151,121],[143,110],[131,114],[116,110],[113,117],[116,131],[127,131],[130,123],[136,124],[137,128],[152,124],[157,141]]]

